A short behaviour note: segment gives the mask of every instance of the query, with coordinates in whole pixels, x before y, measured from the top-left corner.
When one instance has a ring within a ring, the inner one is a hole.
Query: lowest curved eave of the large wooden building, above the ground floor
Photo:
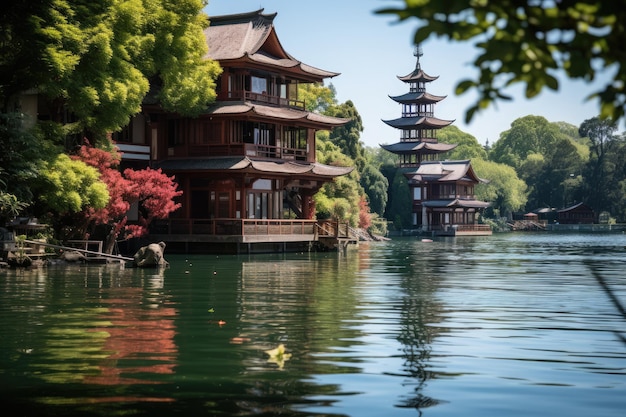
[[[254,160],[248,157],[216,157],[168,159],[157,164],[166,172],[240,172],[280,176],[311,176],[332,179],[349,174],[353,167],[337,167],[319,163],[296,161]]]

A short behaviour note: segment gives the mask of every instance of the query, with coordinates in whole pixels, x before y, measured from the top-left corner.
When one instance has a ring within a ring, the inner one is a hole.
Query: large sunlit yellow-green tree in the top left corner
[[[125,126],[139,112],[150,83],[165,109],[184,115],[198,114],[215,99],[221,69],[205,59],[204,1],[25,3],[5,5],[0,31],[5,107],[21,92],[36,89],[54,121],[82,139]],[[4,77],[12,73],[23,75]],[[71,122],[59,117],[66,111]]]

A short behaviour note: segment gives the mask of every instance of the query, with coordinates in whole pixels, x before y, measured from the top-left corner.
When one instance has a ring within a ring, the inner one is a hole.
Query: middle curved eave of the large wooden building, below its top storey
[[[273,107],[262,104],[254,104],[250,102],[222,102],[210,106],[204,113],[207,115],[255,115],[270,119],[279,119],[286,121],[310,122],[318,125],[320,128],[332,128],[341,126],[350,121],[339,117],[325,116],[322,114],[296,110],[285,107]]]

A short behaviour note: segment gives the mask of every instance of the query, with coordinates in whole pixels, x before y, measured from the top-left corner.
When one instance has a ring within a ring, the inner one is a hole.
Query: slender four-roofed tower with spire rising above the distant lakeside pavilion
[[[402,117],[383,120],[389,126],[401,131],[400,142],[381,147],[398,155],[402,167],[417,167],[422,161],[437,160],[439,154],[456,147],[437,141],[437,131],[449,126],[454,120],[435,117],[435,104],[446,96],[435,96],[426,92],[426,84],[439,77],[430,76],[422,70],[421,46],[415,47],[414,55],[417,58],[415,70],[404,77],[398,76],[400,81],[409,85],[409,92],[400,96],[389,96],[393,101],[402,104]]]

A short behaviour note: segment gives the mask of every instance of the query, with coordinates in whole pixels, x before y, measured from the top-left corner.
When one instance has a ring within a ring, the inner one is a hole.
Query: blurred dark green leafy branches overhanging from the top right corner
[[[379,14],[400,20],[418,19],[415,43],[446,37],[475,41],[479,74],[456,87],[478,99],[466,113],[474,114],[498,100],[510,100],[506,89],[525,87],[526,97],[544,88],[558,90],[556,72],[572,79],[593,80],[598,68],[611,68],[613,79],[588,99],[599,102],[602,118],[619,120],[626,109],[626,1],[435,1],[404,0],[404,7],[387,7]]]

